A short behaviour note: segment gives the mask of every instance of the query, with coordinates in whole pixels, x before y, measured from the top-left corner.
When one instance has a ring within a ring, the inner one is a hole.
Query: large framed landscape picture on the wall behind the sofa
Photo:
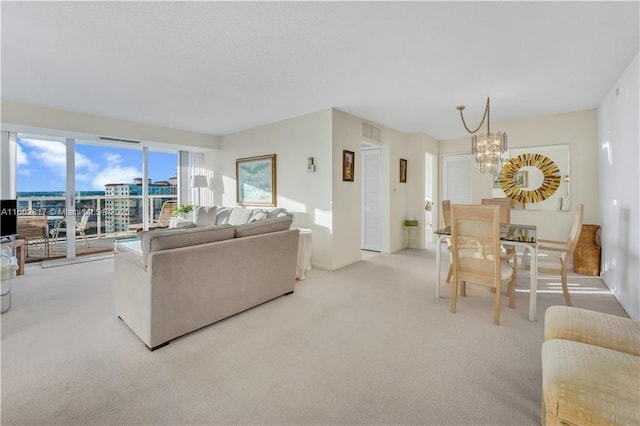
[[[276,155],[236,160],[236,202],[242,206],[275,206]]]

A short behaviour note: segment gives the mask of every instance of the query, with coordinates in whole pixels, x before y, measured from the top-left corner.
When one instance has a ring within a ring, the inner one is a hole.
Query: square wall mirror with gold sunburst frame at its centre
[[[494,198],[511,198],[514,209],[571,209],[569,145],[514,148],[509,157],[493,176]]]

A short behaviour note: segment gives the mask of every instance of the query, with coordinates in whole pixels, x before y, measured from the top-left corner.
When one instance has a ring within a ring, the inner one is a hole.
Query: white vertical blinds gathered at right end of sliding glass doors
[[[191,188],[193,176],[206,176],[207,182],[213,177],[213,172],[204,168],[204,154],[201,152],[180,151],[178,180],[178,200],[180,204],[196,204],[198,199],[202,206],[212,206],[213,193],[207,188]],[[199,196],[196,191],[199,191]]]

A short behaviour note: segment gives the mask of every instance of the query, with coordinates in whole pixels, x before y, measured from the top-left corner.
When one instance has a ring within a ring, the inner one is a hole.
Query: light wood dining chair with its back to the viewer
[[[500,208],[498,206],[451,206],[451,254],[453,284],[451,312],[456,312],[458,285],[466,295],[466,283],[495,289],[493,323],[500,324],[502,283],[508,280],[509,307],[515,307],[515,275],[500,256]]]

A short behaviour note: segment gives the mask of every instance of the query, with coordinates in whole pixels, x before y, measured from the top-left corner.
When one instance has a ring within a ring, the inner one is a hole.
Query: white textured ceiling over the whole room
[[[215,135],[335,107],[451,139],[487,96],[492,122],[597,108],[639,4],[2,1],[2,98]]]

